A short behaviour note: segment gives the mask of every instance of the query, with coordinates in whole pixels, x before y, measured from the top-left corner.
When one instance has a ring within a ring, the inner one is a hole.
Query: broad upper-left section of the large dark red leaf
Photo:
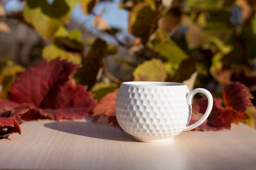
[[[69,80],[70,75],[79,68],[59,58],[47,62],[43,60],[33,68],[27,69],[11,86],[8,98],[17,103],[33,104],[38,108],[47,108],[60,92],[61,86]]]

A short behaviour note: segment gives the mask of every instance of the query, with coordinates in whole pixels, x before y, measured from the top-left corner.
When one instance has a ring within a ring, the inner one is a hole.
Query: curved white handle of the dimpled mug
[[[188,105],[191,105],[193,103],[193,97],[195,96],[196,93],[203,93],[204,95],[206,95],[206,97],[208,99],[208,106],[207,106],[207,109],[206,109],[203,117],[201,117],[201,119],[199,119],[194,124],[186,126],[184,128],[184,131],[192,130],[192,129],[200,126],[207,119],[207,117],[210,115],[211,109],[213,107],[213,97],[212,97],[211,93],[208,90],[204,89],[204,88],[195,88],[194,90],[192,90],[189,93],[189,95],[186,97],[186,102],[187,102]]]

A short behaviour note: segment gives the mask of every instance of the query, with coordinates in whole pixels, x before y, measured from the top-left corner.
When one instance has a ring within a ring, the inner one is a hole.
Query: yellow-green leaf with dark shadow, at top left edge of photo
[[[70,19],[71,9],[79,0],[54,0],[50,5],[47,0],[27,0],[23,10],[24,20],[31,24],[45,40],[51,38],[59,26]]]

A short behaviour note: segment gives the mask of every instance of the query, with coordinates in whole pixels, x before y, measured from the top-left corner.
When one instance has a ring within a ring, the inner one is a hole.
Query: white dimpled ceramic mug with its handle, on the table
[[[189,125],[193,97],[208,98],[204,116]],[[133,139],[144,142],[173,140],[182,131],[202,124],[213,107],[213,97],[204,88],[189,92],[186,84],[173,82],[124,82],[117,93],[116,117],[119,126]],[[189,125],[189,126],[188,126]]]

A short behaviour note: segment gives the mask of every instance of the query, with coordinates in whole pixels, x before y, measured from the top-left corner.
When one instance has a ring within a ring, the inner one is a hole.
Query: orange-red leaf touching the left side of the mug
[[[118,89],[115,89],[114,92],[108,93],[101,98],[98,105],[92,110],[93,121],[97,121],[101,116],[107,116],[108,123],[112,122],[114,126],[119,126],[115,113],[117,92]]]

